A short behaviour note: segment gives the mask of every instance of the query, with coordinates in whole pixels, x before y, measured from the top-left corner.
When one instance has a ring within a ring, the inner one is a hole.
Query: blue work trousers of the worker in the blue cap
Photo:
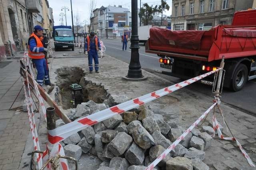
[[[36,82],[38,82],[40,86],[42,86],[43,83],[50,85],[49,71],[46,67],[45,58],[32,59],[32,62],[35,64],[37,70]]]

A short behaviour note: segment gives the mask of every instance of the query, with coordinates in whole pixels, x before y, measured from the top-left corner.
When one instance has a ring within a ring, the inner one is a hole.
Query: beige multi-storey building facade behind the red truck
[[[173,0],[172,30],[209,30],[231,24],[234,12],[252,8],[253,0]]]

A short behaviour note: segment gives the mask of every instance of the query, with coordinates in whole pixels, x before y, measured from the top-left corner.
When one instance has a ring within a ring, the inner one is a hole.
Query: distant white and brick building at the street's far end
[[[128,8],[122,6],[100,7],[94,10],[91,30],[94,30],[100,37],[114,36],[113,25],[117,24],[120,36],[124,31],[131,30],[132,14]]]

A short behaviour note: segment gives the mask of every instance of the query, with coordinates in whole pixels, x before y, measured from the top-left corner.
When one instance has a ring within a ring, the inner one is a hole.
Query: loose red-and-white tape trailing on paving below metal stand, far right
[[[224,121],[225,122],[225,121]],[[213,129],[214,131],[217,129],[217,132],[218,132],[218,136],[219,138],[221,139],[224,139],[224,140],[233,140],[233,141],[236,141],[236,144],[238,146],[238,148],[241,150],[242,154],[244,155],[244,157],[247,159],[247,162],[250,166],[252,167],[255,167],[254,163],[252,162],[250,156],[245,152],[245,150],[242,148],[241,144],[238,142],[238,140],[236,138],[232,138],[232,137],[224,137],[222,135],[222,132],[220,130],[220,126],[219,126],[219,123],[216,119],[216,116],[213,114],[212,115],[212,126],[213,126]]]

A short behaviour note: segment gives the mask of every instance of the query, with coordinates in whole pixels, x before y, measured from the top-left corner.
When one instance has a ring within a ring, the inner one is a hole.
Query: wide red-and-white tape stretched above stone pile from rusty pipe
[[[161,96],[164,96],[166,94],[169,94],[171,92],[174,92],[180,88],[183,88],[187,86],[188,84],[191,84],[193,82],[196,82],[202,78],[205,78],[206,76],[209,76],[210,74],[213,74],[215,72],[218,72],[222,68],[218,68],[217,70],[208,72],[206,74],[202,74],[201,76],[197,76],[195,78],[191,78],[189,80],[186,80],[184,82],[180,82],[178,84],[174,84],[172,86],[163,88],[161,90],[157,90],[155,92],[146,94],[144,96],[140,96],[139,98],[129,100],[127,102],[124,102],[122,104],[118,104],[116,106],[113,106],[111,108],[107,108],[105,110],[102,110],[100,112],[91,114],[89,116],[86,116],[84,118],[80,118],[78,120],[75,120],[74,122],[70,122],[68,124],[65,124],[63,126],[60,126],[54,130],[48,130],[48,140],[50,143],[55,144],[57,142],[60,142],[64,140],[65,138],[68,138],[72,134],[87,128],[88,126],[92,126],[98,122],[101,122],[103,120],[106,120],[108,118],[111,118],[112,116],[115,116],[116,114],[121,114],[125,111],[128,111],[132,108],[136,108],[137,106],[140,106],[142,104],[151,102],[152,100],[155,100]]]

